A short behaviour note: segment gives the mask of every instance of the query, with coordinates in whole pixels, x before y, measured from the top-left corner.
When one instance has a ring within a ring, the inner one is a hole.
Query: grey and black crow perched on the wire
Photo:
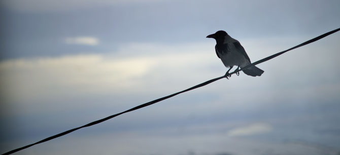
[[[236,75],[239,76],[239,68],[244,68],[251,64],[250,58],[248,57],[245,48],[239,41],[228,35],[227,32],[220,30],[214,34],[210,34],[207,38],[214,38],[216,40],[215,51],[218,58],[221,59],[222,63],[229,70],[226,72],[225,77],[228,78],[229,71],[233,66],[237,66],[235,70]],[[250,76],[261,76],[263,70],[256,66],[249,67],[242,70],[245,74]]]

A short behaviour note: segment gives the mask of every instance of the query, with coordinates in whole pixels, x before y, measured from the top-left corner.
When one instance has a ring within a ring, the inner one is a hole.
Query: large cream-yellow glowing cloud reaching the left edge
[[[12,98],[40,98],[35,94],[51,96],[67,89],[86,93],[127,88],[134,83],[130,79],[145,74],[152,63],[139,58],[118,60],[102,55],[76,55],[5,61],[0,64],[0,72],[4,73],[2,84],[8,86]]]

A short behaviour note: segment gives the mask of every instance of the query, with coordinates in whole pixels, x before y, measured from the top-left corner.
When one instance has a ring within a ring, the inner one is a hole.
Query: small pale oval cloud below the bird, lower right
[[[254,123],[248,126],[239,127],[228,131],[227,135],[234,136],[250,136],[260,133],[267,133],[272,130],[271,126],[266,123]]]

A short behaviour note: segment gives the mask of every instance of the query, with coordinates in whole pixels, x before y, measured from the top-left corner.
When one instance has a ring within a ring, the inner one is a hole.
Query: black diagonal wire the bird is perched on
[[[234,73],[236,73],[236,72],[240,72],[240,71],[245,70],[245,69],[247,69],[247,68],[249,68],[249,67],[255,66],[255,65],[257,65],[257,64],[260,64],[260,63],[263,63],[263,62],[268,61],[268,60],[270,60],[270,59],[273,59],[273,58],[275,58],[275,57],[278,57],[278,56],[280,56],[280,55],[286,53],[286,52],[289,51],[289,50],[292,50],[292,49],[295,49],[295,48],[298,48],[298,47],[307,45],[307,44],[309,44],[309,43],[312,43],[312,42],[314,42],[314,41],[317,41],[317,40],[319,40],[319,39],[321,39],[321,38],[323,38],[323,37],[326,37],[326,36],[328,36],[328,35],[330,35],[330,34],[332,34],[332,33],[335,33],[335,32],[337,32],[337,31],[339,31],[339,30],[340,30],[340,28],[335,29],[335,30],[333,30],[333,31],[329,31],[329,32],[327,32],[327,33],[325,33],[325,34],[322,34],[322,35],[320,35],[320,36],[318,36],[318,37],[315,37],[315,38],[313,38],[313,39],[311,39],[311,40],[305,41],[305,42],[303,42],[303,43],[301,43],[301,44],[299,44],[299,45],[296,45],[296,46],[294,46],[294,47],[292,47],[292,48],[289,48],[289,49],[287,49],[287,50],[281,51],[281,52],[279,52],[279,53],[277,53],[277,54],[274,54],[274,55],[271,55],[271,56],[269,56],[269,57],[263,58],[263,59],[261,59],[261,60],[255,62],[255,63],[252,63],[252,64],[250,64],[250,65],[248,65],[248,66],[246,66],[246,67],[244,67],[244,68],[242,68],[242,69],[239,69],[239,70],[237,70],[237,71],[233,71],[233,72],[231,72],[231,73],[229,73],[229,74],[226,74],[226,75],[224,75],[224,76],[217,77],[217,78],[215,78],[215,79],[211,79],[211,80],[209,80],[209,81],[206,81],[206,82],[203,82],[203,83],[201,83],[201,84],[195,85],[195,86],[193,86],[193,87],[191,87],[191,88],[182,90],[182,91],[180,91],[180,92],[176,92],[176,93],[173,93],[173,94],[171,94],[171,95],[164,96],[164,97],[161,97],[161,98],[158,98],[158,99],[155,99],[155,100],[146,102],[146,103],[143,104],[143,105],[139,105],[139,106],[137,106],[137,107],[131,108],[131,109],[126,110],[126,111],[124,111],[124,112],[121,112],[121,113],[118,113],[118,114],[115,114],[115,115],[111,115],[111,116],[109,116],[109,117],[106,117],[106,118],[103,118],[103,119],[100,119],[100,120],[97,120],[97,121],[88,123],[88,124],[83,125],[83,126],[81,126],[81,127],[77,127],[77,128],[71,129],[71,130],[64,131],[64,132],[62,132],[62,133],[53,135],[53,136],[51,136],[51,137],[45,138],[45,139],[43,139],[43,140],[40,140],[40,141],[38,141],[38,142],[29,144],[29,145],[26,145],[26,146],[23,146],[23,147],[20,147],[20,148],[13,149],[13,150],[8,151],[8,152],[6,152],[6,153],[4,153],[4,154],[12,154],[12,153],[17,152],[17,151],[19,151],[19,150],[28,148],[28,147],[30,147],[30,146],[33,146],[33,145],[36,145],[36,144],[39,144],[39,143],[43,143],[43,142],[45,142],[45,141],[52,140],[52,139],[54,139],[54,138],[63,136],[63,135],[65,135],[65,134],[71,133],[71,132],[76,131],[76,130],[78,130],[78,129],[85,128],[85,127],[89,127],[89,126],[92,126],[92,125],[95,125],[95,124],[98,124],[98,123],[107,121],[107,120],[109,120],[109,119],[112,119],[112,118],[114,118],[114,117],[116,117],[116,116],[119,116],[119,115],[122,115],[122,114],[124,114],[124,113],[132,112],[132,111],[134,111],[134,110],[138,110],[138,109],[141,109],[141,108],[144,108],[144,107],[153,105],[153,104],[155,104],[155,103],[157,103],[157,102],[159,102],[159,101],[162,101],[162,100],[164,100],[164,99],[167,99],[167,98],[176,96],[176,95],[178,95],[178,94],[180,94],[180,93],[183,93],[183,92],[186,92],[186,91],[190,91],[190,90],[192,90],[192,89],[196,89],[196,88],[205,86],[205,85],[207,85],[207,84],[209,84],[209,83],[212,83],[212,82],[214,82],[214,81],[217,81],[217,80],[219,80],[219,79],[226,78],[227,76],[232,75],[232,74],[234,74]]]

